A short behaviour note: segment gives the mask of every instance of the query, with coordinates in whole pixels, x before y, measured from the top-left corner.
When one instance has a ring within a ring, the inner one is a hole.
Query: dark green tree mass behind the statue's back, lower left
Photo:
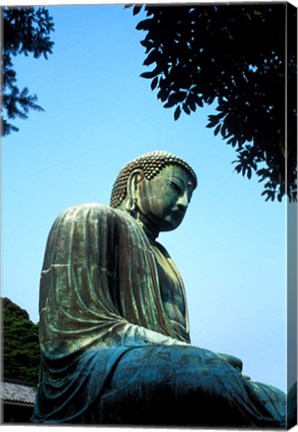
[[[38,324],[28,313],[8,298],[1,298],[3,375],[21,381],[37,383],[40,351]]]

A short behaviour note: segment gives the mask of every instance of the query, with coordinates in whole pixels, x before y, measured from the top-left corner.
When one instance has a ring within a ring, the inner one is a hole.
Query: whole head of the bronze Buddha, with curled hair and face
[[[182,222],[197,186],[192,168],[165,151],[129,162],[112,190],[111,207],[127,211],[150,231],[170,231]]]

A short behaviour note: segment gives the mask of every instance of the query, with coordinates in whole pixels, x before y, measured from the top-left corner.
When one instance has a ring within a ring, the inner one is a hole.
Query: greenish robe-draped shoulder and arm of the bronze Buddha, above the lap
[[[41,279],[44,340],[63,340],[75,348],[92,340],[185,344],[162,319],[146,238],[122,219],[104,206],[82,205],[56,220]]]

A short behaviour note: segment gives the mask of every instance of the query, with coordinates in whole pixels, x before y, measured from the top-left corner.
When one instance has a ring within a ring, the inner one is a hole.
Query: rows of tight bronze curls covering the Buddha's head
[[[168,165],[183,167],[193,178],[194,189],[196,188],[197,176],[187,162],[167,151],[156,150],[133,159],[122,168],[113,186],[110,201],[111,207],[119,207],[125,199],[127,194],[127,180],[132,171],[141,169],[144,172],[145,178],[151,180]]]

